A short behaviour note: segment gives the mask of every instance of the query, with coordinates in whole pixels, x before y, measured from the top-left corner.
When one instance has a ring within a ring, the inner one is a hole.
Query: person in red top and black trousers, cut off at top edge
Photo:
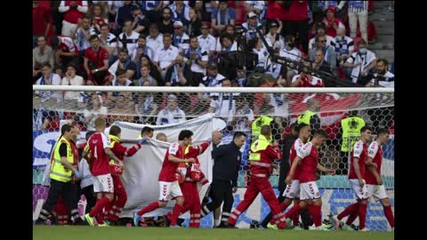
[[[289,3],[290,2],[290,3]],[[309,6],[308,1],[289,1],[285,2],[285,20],[283,32],[284,35],[292,34],[296,38],[297,46],[302,44],[302,51],[308,52],[309,37]]]

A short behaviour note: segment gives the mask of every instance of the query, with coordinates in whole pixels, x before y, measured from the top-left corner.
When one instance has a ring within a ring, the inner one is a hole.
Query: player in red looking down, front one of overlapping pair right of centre
[[[314,225],[318,230],[328,230],[322,227],[322,198],[318,191],[316,184],[316,170],[327,172],[334,175],[335,171],[327,169],[318,163],[318,146],[322,145],[327,139],[327,133],[323,129],[318,129],[313,134],[313,139],[306,143],[297,152],[294,163],[291,166],[288,176],[286,177],[286,184],[292,184],[295,171],[298,164],[302,162],[300,174],[300,204],[295,204],[288,212],[286,212],[286,219],[292,218],[294,214],[300,214],[302,209],[308,205],[308,210],[313,218]],[[286,222],[288,222],[286,220]]]

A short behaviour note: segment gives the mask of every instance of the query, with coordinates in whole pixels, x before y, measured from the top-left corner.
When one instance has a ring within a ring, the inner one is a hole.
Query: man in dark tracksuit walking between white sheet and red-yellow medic
[[[213,175],[214,180],[211,184],[209,196],[212,202],[202,205],[202,218],[215,208],[221,206],[222,201],[222,217],[219,228],[225,227],[224,224],[229,220],[231,207],[233,206],[233,193],[238,190],[238,170],[242,159],[240,148],[246,142],[246,135],[243,132],[235,132],[233,140],[212,151],[214,159]]]

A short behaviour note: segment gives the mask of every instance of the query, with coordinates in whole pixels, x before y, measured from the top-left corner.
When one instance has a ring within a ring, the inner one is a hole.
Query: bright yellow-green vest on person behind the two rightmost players
[[[354,144],[360,140],[360,129],[362,129],[364,126],[365,120],[363,120],[363,118],[360,116],[349,116],[341,120],[342,152],[349,152],[353,150]]]

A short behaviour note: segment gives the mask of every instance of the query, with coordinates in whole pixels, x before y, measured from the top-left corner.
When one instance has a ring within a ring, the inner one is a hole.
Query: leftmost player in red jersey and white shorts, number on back
[[[97,202],[92,211],[85,215],[89,225],[94,226],[93,217],[97,216],[98,226],[107,227],[103,220],[103,209],[113,201],[114,183],[109,173],[109,161],[113,159],[121,168],[124,167],[122,160],[110,149],[109,138],[104,134],[106,122],[102,117],[95,119],[96,132],[88,140],[89,153],[84,150],[83,156],[89,160],[93,175],[93,192],[97,195]],[[89,156],[89,157],[87,157]]]

